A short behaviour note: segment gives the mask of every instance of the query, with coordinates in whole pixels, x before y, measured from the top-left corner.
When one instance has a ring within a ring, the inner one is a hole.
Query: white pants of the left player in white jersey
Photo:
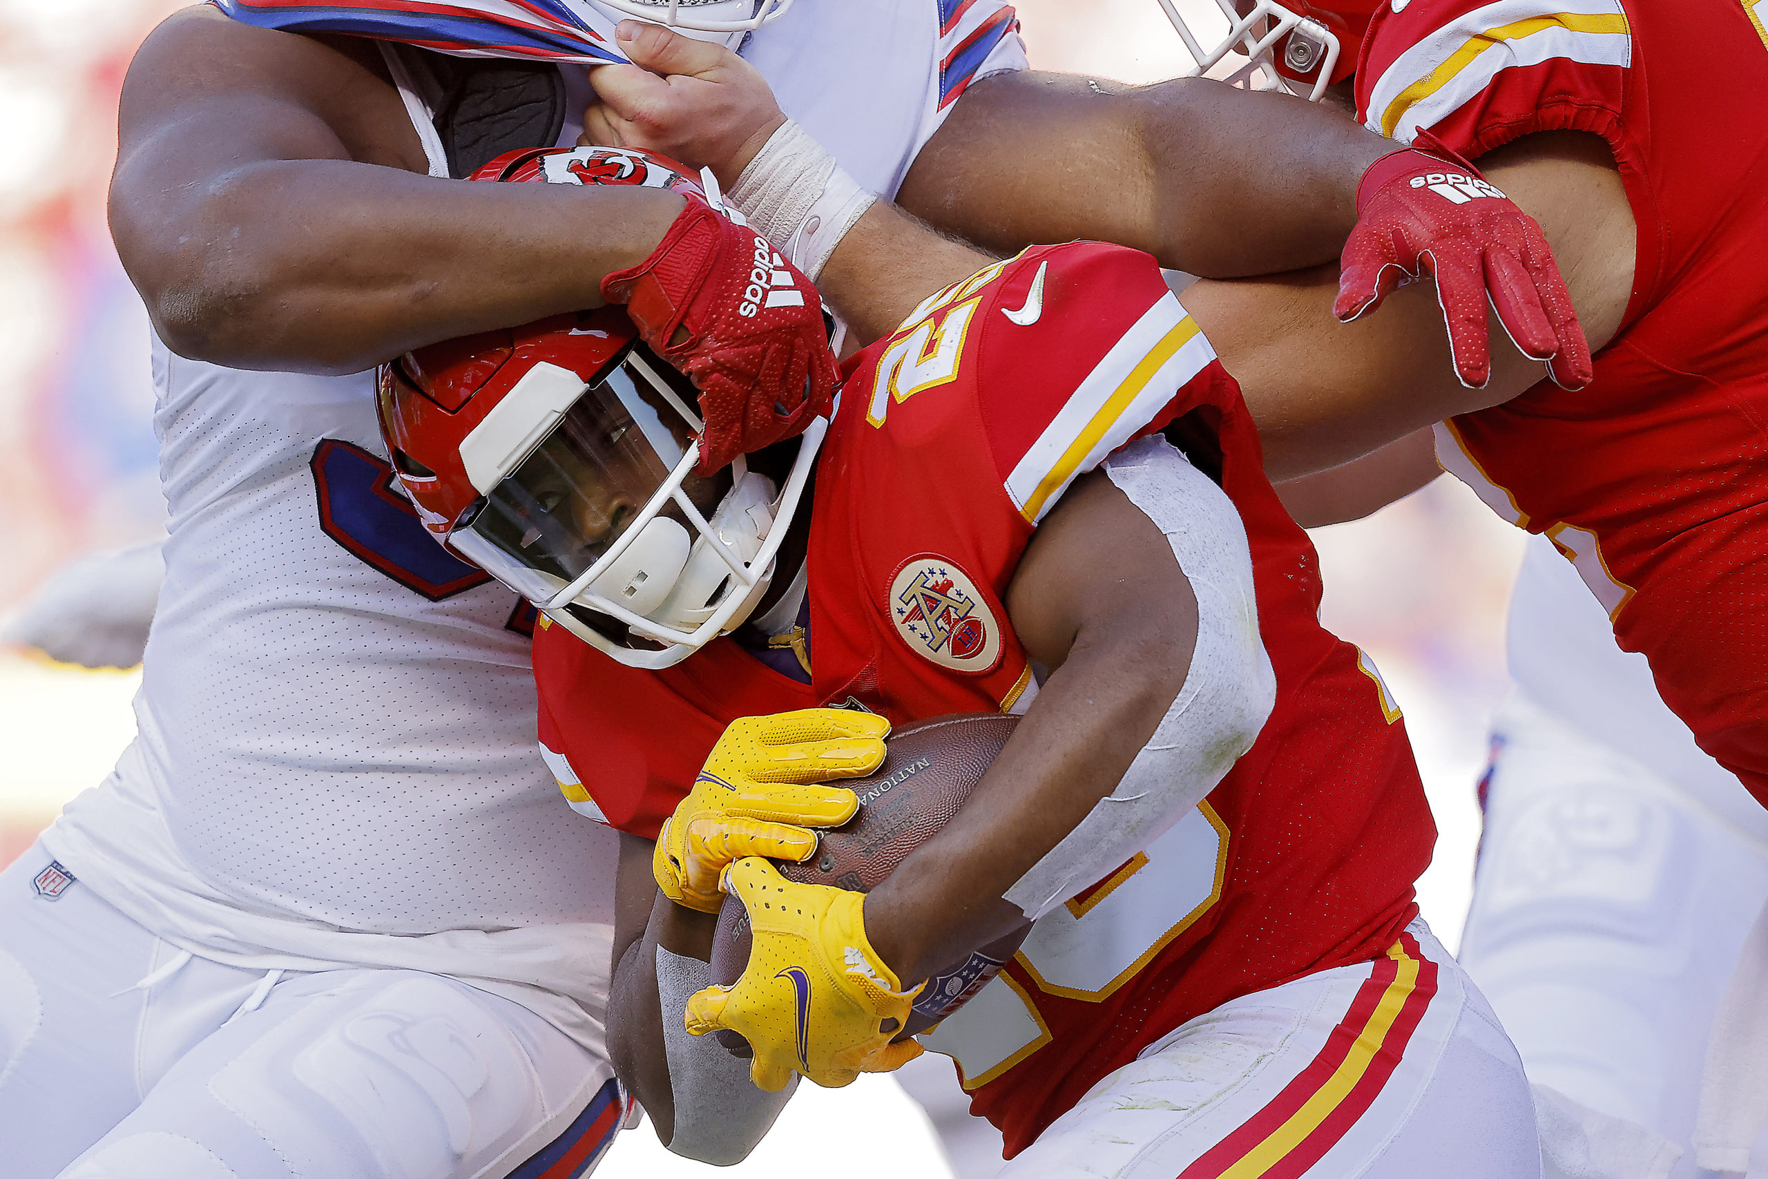
[[[0,873],[5,1179],[575,1179],[621,1128],[608,1064],[507,999],[191,958],[50,863]]]

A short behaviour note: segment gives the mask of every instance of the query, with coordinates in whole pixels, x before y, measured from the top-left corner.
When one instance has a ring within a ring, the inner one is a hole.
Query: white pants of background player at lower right
[[[1768,845],[1526,702],[1494,728],[1460,962],[1529,1080],[1667,1138],[1692,1179],[1708,1029],[1768,901]],[[1609,1170],[1664,1172],[1625,1161]]]

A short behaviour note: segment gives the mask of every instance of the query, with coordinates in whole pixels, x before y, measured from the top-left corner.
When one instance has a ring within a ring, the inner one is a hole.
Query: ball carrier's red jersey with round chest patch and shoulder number
[[[541,739],[608,822],[654,838],[737,716],[849,696],[895,723],[1024,707],[1002,605],[1020,553],[1077,475],[1165,428],[1246,525],[1276,705],[1202,806],[1041,917],[925,1038],[1011,1154],[1179,1023],[1381,956],[1416,914],[1436,831],[1398,711],[1321,629],[1314,548],[1153,258],[1031,249],[934,295],[847,371],[810,525],[810,682],[728,638],[640,672],[548,628]]]

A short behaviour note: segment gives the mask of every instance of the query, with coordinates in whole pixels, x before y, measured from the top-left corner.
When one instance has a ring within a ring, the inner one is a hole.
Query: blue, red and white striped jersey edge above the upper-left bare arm
[[[209,0],[242,25],[354,34],[451,53],[601,65],[624,62],[613,21],[564,0]]]

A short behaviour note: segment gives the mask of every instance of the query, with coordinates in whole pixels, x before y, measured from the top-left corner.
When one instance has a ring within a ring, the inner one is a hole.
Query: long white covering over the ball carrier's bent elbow
[[[1006,891],[1033,919],[1185,818],[1252,748],[1276,704],[1252,551],[1234,504],[1158,435],[1105,460],[1105,470],[1172,544],[1197,596],[1197,645],[1185,688],[1117,788]]]

